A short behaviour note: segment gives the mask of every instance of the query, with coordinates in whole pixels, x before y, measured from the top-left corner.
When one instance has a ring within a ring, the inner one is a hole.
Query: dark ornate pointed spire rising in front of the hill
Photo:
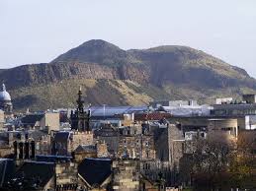
[[[71,111],[71,129],[78,130],[80,132],[90,131],[89,119],[90,113],[84,110],[84,100],[82,99],[81,87],[78,92],[77,108],[75,111]]]

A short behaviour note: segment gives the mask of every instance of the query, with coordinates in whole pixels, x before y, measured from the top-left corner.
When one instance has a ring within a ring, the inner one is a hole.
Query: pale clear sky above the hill
[[[187,45],[256,78],[255,0],[0,0],[0,68],[50,62],[90,39]]]

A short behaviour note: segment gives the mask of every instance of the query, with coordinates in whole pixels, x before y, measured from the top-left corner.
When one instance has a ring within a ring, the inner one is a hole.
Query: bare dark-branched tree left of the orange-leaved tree
[[[226,185],[230,147],[225,142],[197,139],[193,151],[180,162],[183,181],[192,180],[196,190],[215,189]]]

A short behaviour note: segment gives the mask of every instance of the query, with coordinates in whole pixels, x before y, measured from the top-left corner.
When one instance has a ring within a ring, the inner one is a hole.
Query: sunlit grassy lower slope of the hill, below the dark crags
[[[42,86],[32,86],[10,91],[16,111],[67,108],[76,105],[77,91],[82,87],[85,105],[144,105],[150,101],[165,99],[199,99],[201,103],[213,103],[220,96],[236,96],[253,93],[246,88],[219,90],[191,90],[189,87],[168,86],[162,89],[151,85],[139,85],[122,80],[69,79]]]

